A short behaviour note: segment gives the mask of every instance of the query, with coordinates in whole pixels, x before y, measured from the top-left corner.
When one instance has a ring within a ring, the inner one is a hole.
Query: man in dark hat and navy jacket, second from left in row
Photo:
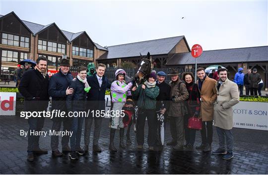
[[[49,95],[52,97],[52,111],[58,110],[60,112],[66,112],[66,97],[72,94],[73,89],[69,88],[69,84],[73,79],[70,73],[69,59],[62,59],[60,64],[60,70],[50,78],[49,82]],[[56,132],[60,131],[63,122],[63,131],[69,131],[71,126],[71,117],[53,117],[52,130]],[[62,150],[63,152],[70,151],[68,146],[69,136],[65,135],[62,138]],[[63,156],[63,153],[58,149],[59,136],[51,136],[51,149],[53,156]]]

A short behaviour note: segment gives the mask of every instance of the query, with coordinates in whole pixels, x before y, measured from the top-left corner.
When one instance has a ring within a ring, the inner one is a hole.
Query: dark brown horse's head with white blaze
[[[151,73],[150,53],[148,52],[147,57],[143,57],[140,54],[138,70],[134,76],[136,83],[139,85],[143,83],[144,81],[146,81],[150,73]]]

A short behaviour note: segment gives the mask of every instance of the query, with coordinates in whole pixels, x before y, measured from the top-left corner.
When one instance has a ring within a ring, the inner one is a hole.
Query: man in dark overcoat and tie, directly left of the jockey
[[[102,117],[96,117],[96,114],[101,114],[104,110],[105,113],[105,91],[107,88],[111,88],[111,83],[107,77],[104,76],[106,65],[98,64],[96,67],[96,73],[93,76],[87,76],[87,82],[91,87],[87,93],[87,110],[90,110],[90,117],[85,119],[85,133],[84,133],[84,151],[88,152],[89,137],[91,125],[94,119],[94,136],[93,136],[93,151],[101,152],[101,148],[98,145],[101,121]],[[94,111],[92,113],[92,111]],[[93,116],[94,114],[94,116]]]

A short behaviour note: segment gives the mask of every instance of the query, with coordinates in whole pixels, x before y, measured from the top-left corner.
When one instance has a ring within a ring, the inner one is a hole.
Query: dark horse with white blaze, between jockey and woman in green
[[[138,64],[138,70],[134,76],[136,84],[134,86],[138,86],[140,84],[143,84],[149,77],[151,73],[151,61],[150,61],[150,53],[147,53],[146,57],[143,57],[140,54],[140,62]],[[133,86],[133,87],[134,87]],[[128,131],[126,134],[127,137],[127,144],[131,145],[131,139],[130,139],[130,129],[132,126],[132,123],[134,123],[134,132],[136,133],[136,115],[137,115],[137,107],[135,107],[135,115],[133,115],[133,120],[128,125]]]

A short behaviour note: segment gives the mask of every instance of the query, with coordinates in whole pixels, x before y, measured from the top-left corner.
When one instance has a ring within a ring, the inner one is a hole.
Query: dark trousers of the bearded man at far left
[[[34,150],[39,148],[39,137],[40,135],[34,135],[32,132],[38,132],[42,130],[44,126],[45,118],[28,118],[29,131],[28,131],[28,148],[27,152],[32,153]]]

